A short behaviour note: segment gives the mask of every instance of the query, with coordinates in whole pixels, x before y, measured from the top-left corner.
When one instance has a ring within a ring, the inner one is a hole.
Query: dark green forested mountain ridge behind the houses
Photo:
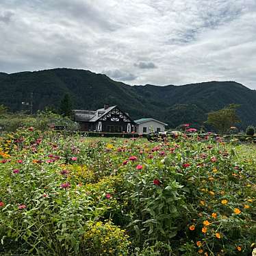
[[[33,92],[34,111],[58,107],[70,94],[74,108],[96,110],[104,103],[118,105],[132,118],[153,117],[177,127],[201,125],[207,113],[231,103],[240,104],[242,127],[256,125],[256,91],[234,81],[210,81],[184,86],[129,86],[90,71],[55,68],[46,71],[0,73],[0,104],[25,110]]]

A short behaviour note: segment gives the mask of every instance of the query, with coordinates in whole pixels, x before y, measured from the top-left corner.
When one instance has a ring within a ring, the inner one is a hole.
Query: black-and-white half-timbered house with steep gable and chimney
[[[136,125],[118,106],[107,104],[95,111],[73,110],[73,119],[79,123],[81,131],[130,133]]]

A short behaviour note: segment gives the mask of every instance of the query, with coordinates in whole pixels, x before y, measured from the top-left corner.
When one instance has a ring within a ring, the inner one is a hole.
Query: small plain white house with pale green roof
[[[166,123],[162,123],[153,118],[141,118],[134,121],[136,123],[136,131],[139,134],[149,134],[153,131],[164,131]]]

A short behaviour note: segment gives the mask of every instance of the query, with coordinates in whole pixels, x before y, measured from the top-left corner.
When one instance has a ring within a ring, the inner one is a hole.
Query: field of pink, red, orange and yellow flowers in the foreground
[[[156,142],[32,127],[5,134],[0,255],[251,255],[248,149],[196,134]]]

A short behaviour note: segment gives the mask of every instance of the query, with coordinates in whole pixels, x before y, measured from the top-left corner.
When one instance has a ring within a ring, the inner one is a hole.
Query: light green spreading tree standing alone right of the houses
[[[210,112],[205,123],[212,125],[221,134],[227,133],[230,127],[241,122],[236,113],[236,109],[239,106],[237,104],[231,104],[222,108],[222,110]]]

